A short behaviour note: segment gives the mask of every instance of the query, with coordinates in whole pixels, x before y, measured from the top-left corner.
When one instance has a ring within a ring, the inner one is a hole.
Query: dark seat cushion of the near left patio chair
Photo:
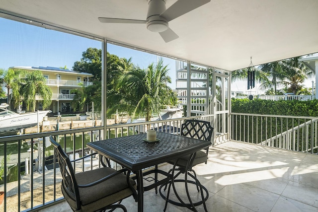
[[[116,172],[116,170],[109,167],[103,167],[90,171],[79,172],[75,174],[75,178],[78,185],[83,185],[99,180],[105,176],[110,175],[113,172]],[[133,179],[130,179],[130,183],[136,189],[136,183]],[[63,186],[62,193],[67,201],[70,201],[72,203],[71,204],[69,202],[69,204],[74,205],[74,207],[76,208],[74,197],[69,196]],[[79,188],[81,211],[97,211],[100,208],[112,205],[119,200],[131,196],[132,194],[133,192],[127,183],[126,175],[121,173],[97,185],[86,188]]]

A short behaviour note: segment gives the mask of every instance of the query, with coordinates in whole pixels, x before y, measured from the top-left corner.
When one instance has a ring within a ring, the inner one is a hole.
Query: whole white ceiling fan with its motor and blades
[[[147,24],[147,29],[152,32],[159,32],[162,39],[167,43],[177,39],[168,25],[173,20],[193,9],[202,6],[211,0],[177,0],[169,8],[165,9],[165,0],[148,0],[148,13],[146,20],[105,18],[99,17],[102,23],[143,23]]]

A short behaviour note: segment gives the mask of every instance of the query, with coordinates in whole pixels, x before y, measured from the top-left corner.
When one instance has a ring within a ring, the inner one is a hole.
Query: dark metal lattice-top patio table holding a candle
[[[87,143],[87,147],[110,158],[136,174],[138,212],[143,212],[144,184],[142,169],[193,154],[211,145],[202,141],[174,134],[157,132],[159,141],[144,141],[146,134],[138,134]]]

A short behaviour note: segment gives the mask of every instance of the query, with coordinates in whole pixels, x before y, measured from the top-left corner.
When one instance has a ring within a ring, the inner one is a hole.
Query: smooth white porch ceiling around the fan
[[[176,0],[166,0],[168,8]],[[169,22],[179,36],[165,43],[144,24],[147,0],[0,0],[0,9],[76,31],[233,71],[318,52],[318,0],[211,0]]]

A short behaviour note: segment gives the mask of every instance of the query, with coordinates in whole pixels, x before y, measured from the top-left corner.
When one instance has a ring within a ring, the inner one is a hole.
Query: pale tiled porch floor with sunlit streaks
[[[229,141],[211,147],[208,163],[195,171],[209,191],[209,212],[318,212],[318,155]],[[180,194],[183,186],[177,185]],[[193,199],[196,196],[193,191]],[[164,200],[154,190],[144,197],[145,212],[163,211]],[[122,204],[128,212],[137,212],[132,197]],[[204,211],[203,206],[196,209]],[[64,202],[44,211],[71,209]],[[168,204],[167,211],[190,210]]]

